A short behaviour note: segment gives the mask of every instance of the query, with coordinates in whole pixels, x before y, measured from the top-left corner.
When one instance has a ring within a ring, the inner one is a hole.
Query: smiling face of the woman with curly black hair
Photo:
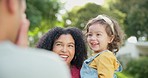
[[[53,52],[57,53],[66,63],[70,63],[75,55],[75,41],[70,34],[62,34],[53,45]]]

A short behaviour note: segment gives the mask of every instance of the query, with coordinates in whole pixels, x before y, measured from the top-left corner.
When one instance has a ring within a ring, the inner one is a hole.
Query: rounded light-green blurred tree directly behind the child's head
[[[95,3],[88,3],[83,7],[75,7],[70,12],[63,16],[65,21],[65,27],[75,26],[80,29],[84,29],[86,23],[91,19],[96,17],[99,14],[106,14],[111,17],[114,17],[122,26],[124,13],[121,13],[118,10],[109,10]],[[71,24],[67,24],[66,21],[71,21]]]

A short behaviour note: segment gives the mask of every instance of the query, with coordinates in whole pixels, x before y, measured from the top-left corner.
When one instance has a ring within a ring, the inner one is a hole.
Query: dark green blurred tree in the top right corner
[[[148,38],[148,0],[116,0],[111,9],[117,9],[126,14],[124,28],[127,36]],[[122,6],[121,6],[122,5]]]

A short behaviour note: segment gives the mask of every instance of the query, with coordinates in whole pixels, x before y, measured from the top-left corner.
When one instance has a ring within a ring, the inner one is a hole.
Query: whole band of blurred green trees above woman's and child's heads
[[[105,0],[104,5],[88,3],[67,11],[57,20],[63,4],[59,0],[27,0],[27,17],[31,22],[29,40],[34,45],[39,37],[55,26],[84,29],[86,23],[99,14],[116,19],[127,36],[148,37],[148,0]]]

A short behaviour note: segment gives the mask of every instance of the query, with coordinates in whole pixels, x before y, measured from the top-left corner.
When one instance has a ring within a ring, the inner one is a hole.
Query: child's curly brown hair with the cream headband
[[[85,26],[85,31],[88,33],[88,29],[93,24],[101,24],[105,26],[106,33],[109,37],[114,35],[114,39],[111,43],[108,44],[108,50],[112,52],[118,52],[119,47],[123,42],[124,33],[121,30],[119,24],[112,18],[106,16],[106,15],[98,15],[97,17],[91,19],[88,21],[88,23]]]

